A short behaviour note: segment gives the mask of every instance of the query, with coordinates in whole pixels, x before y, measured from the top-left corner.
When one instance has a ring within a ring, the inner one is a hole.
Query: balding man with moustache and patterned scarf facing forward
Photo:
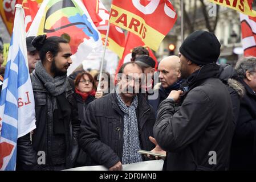
[[[87,165],[121,170],[122,164],[142,162],[137,151],[152,150],[155,113],[139,94],[143,70],[137,63],[122,65],[115,93],[91,102],[84,114],[79,143]]]

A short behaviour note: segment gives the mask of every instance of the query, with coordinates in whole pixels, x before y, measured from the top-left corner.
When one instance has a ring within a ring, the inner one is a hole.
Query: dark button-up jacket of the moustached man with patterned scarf
[[[140,146],[152,150],[149,140],[153,136],[155,113],[145,98],[139,95],[137,119]],[[111,167],[121,161],[123,155],[123,112],[117,105],[116,94],[107,94],[91,102],[81,125],[80,147],[89,154],[87,165]]]

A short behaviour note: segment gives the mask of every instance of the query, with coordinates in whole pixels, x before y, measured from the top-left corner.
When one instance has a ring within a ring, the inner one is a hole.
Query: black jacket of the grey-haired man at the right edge
[[[256,94],[243,80],[246,89],[231,146],[230,169],[256,170]]]

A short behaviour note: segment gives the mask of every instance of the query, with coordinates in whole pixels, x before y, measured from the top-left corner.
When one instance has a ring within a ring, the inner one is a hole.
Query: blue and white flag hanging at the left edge
[[[16,5],[0,99],[0,170],[16,167],[17,139],[35,129],[35,103],[27,63],[24,11]]]

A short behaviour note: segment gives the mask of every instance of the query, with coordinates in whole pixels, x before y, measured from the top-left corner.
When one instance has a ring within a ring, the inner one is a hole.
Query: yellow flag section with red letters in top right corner
[[[209,0],[217,5],[229,7],[237,10],[240,13],[256,16],[256,11],[253,10],[253,0]]]

